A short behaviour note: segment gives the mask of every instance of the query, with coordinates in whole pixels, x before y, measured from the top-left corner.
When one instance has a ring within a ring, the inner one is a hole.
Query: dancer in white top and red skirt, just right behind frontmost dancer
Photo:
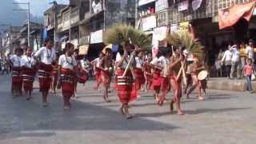
[[[136,89],[138,90],[138,94],[140,90],[142,90],[142,85],[145,83],[145,78],[143,74],[143,52],[139,51],[137,56],[135,57],[135,67],[134,67],[134,74],[135,74],[135,85]],[[140,97],[140,95],[138,95]]]

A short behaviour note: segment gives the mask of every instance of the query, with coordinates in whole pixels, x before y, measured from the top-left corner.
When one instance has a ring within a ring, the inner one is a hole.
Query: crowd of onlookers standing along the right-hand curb
[[[229,45],[221,50],[215,59],[217,77],[246,78],[247,89],[252,91],[251,81],[255,79],[256,48],[254,41]]]

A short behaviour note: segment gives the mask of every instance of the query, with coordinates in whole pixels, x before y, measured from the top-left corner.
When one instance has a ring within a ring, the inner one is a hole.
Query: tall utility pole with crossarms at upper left
[[[30,47],[30,0],[28,2],[14,2],[14,5],[27,5],[27,9],[15,9],[14,11],[27,12],[27,46]]]

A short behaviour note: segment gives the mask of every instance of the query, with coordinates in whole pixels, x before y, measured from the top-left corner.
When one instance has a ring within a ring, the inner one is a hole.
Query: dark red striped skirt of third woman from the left
[[[40,63],[38,66],[38,80],[40,91],[50,90],[52,66]]]

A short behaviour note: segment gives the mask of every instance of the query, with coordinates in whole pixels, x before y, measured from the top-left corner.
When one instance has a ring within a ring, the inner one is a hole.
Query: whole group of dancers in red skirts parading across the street
[[[64,110],[70,109],[70,98],[76,96],[77,83],[86,83],[88,79],[88,67],[94,66],[96,78],[95,90],[100,84],[104,87],[103,99],[110,102],[109,91],[111,78],[115,78],[114,89],[118,93],[122,103],[120,112],[126,118],[132,118],[129,111],[129,103],[140,96],[142,91],[153,90],[154,98],[159,106],[164,102],[170,102],[170,110],[177,105],[177,114],[182,115],[182,79],[181,69],[186,70],[186,98],[197,88],[198,98],[203,100],[201,90],[205,92],[206,80],[198,80],[197,74],[205,67],[194,58],[192,62],[186,61],[186,54],[179,48],[159,49],[155,58],[146,54],[138,46],[126,43],[119,50],[114,61],[110,47],[104,48],[99,57],[92,62],[79,60],[78,53],[72,43],[66,43],[62,54],[57,54],[52,41],[45,40],[45,46],[32,54],[31,48],[26,48],[23,55],[22,49],[16,49],[10,57],[12,69],[12,94],[14,97],[22,95],[22,86],[26,94],[26,100],[30,100],[33,91],[35,75],[38,73],[39,89],[42,93],[42,106],[48,106],[50,89],[56,93],[56,89],[62,89]],[[173,91],[173,98],[169,101],[166,95]]]

